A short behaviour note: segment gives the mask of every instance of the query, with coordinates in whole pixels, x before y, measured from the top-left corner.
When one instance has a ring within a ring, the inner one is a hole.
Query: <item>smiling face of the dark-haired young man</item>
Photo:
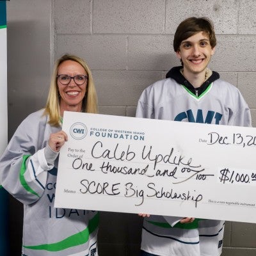
[[[183,40],[176,54],[184,64],[185,76],[205,74],[205,68],[214,54],[214,47],[211,47],[207,33],[202,31]]]

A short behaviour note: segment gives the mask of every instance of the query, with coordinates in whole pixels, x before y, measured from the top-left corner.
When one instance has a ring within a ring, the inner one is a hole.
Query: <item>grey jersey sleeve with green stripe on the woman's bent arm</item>
[[[0,159],[1,185],[23,204],[32,204],[42,196],[47,171],[53,168],[39,140],[39,129],[26,118]]]

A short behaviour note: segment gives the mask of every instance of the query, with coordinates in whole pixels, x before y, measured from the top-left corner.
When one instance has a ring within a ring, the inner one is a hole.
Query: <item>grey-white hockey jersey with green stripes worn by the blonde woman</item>
[[[54,208],[58,159],[48,164],[44,148],[61,127],[43,113],[19,125],[0,159],[4,189],[24,204],[22,255],[97,256],[99,213]]]

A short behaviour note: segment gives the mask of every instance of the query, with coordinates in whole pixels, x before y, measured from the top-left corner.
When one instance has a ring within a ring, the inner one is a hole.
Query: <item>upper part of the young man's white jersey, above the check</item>
[[[137,117],[251,126],[250,109],[239,90],[225,81],[212,82],[196,97],[174,79],[157,81],[141,94]]]

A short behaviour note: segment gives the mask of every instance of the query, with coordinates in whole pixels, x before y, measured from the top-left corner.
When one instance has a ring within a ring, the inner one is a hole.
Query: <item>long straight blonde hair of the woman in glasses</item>
[[[90,68],[83,59],[75,55],[65,54],[56,61],[52,70],[51,84],[44,111],[45,115],[49,115],[49,124],[55,126],[60,125],[60,94],[58,92],[57,85],[58,68],[61,63],[67,60],[72,60],[79,63],[84,68],[88,76],[86,94],[84,95],[83,99],[82,111],[86,113],[97,113],[97,95]]]

